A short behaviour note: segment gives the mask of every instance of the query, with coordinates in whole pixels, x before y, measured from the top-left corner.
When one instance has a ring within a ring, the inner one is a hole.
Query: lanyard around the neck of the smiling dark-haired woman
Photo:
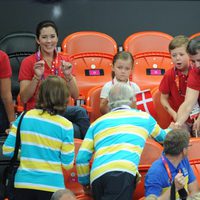
[[[60,76],[62,72],[60,70],[58,53],[56,52],[56,50],[54,51],[54,55],[55,56],[54,56],[53,62],[51,64],[51,74]],[[42,55],[41,55],[40,50],[38,50],[36,52],[36,61],[40,61],[41,59],[42,59]]]

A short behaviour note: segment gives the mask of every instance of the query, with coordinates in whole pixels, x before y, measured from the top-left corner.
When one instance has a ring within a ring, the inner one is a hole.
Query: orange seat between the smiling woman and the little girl
[[[111,65],[117,53],[117,43],[105,33],[81,31],[72,33],[62,41],[61,53],[70,56],[80,96],[85,99],[90,88],[111,80]]]

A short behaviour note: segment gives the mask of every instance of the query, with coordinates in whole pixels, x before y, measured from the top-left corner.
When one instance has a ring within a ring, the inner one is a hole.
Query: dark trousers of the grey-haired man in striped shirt
[[[108,172],[92,183],[95,200],[132,200],[136,178],[127,172]]]

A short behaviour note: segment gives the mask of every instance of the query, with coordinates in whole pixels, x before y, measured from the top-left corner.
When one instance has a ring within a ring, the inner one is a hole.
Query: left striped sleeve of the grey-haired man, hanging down
[[[90,183],[90,160],[93,152],[93,128],[90,126],[76,158],[78,181],[82,185],[87,185]]]

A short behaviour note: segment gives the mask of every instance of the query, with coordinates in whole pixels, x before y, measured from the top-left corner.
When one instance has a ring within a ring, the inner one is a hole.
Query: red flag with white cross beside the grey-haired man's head
[[[136,105],[138,110],[148,112],[153,117],[156,116],[152,94],[149,89],[142,90],[136,94]]]

